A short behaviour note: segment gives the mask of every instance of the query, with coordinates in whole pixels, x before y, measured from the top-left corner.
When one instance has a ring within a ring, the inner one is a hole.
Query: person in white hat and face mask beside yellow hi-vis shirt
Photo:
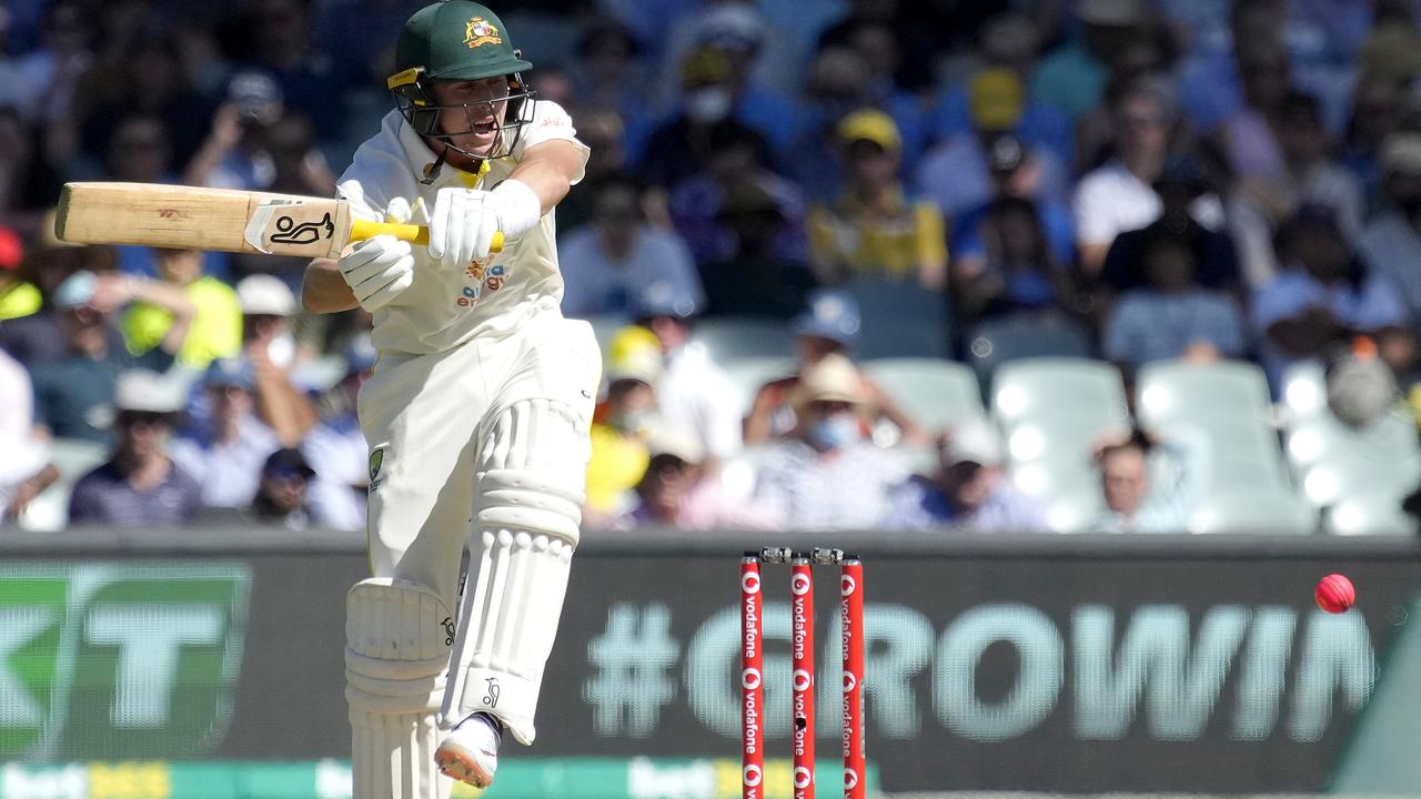
[[[291,317],[296,294],[273,274],[249,274],[237,281],[242,307],[242,357],[256,381],[257,417],[276,431],[283,446],[297,446],[315,427],[315,408],[291,378],[296,334]]]

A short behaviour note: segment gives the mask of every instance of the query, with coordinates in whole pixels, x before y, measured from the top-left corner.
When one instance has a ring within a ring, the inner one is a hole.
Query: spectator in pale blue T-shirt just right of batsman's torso
[[[567,316],[631,316],[637,293],[652,286],[664,286],[688,313],[705,304],[685,242],[647,225],[631,176],[603,179],[593,198],[593,225],[566,236],[558,252]]]

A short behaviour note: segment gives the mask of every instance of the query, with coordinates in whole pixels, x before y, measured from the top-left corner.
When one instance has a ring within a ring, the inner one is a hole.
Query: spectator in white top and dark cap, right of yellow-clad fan
[[[655,336],[664,358],[657,408],[666,424],[696,435],[715,468],[740,451],[735,385],[703,347],[691,343],[691,314],[668,300],[649,289],[637,311],[637,324]]]

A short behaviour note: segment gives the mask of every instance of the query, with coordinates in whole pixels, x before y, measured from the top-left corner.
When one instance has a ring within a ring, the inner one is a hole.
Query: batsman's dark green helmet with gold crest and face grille
[[[487,154],[466,154],[482,159],[504,158],[513,152],[523,127],[533,118],[534,94],[522,75],[531,68],[533,64],[513,47],[497,14],[470,0],[442,0],[415,11],[405,21],[395,44],[395,74],[387,85],[416,132],[459,149],[449,142],[449,135],[458,135],[458,131],[449,134],[441,129],[439,117],[445,112],[468,114],[470,107],[482,104],[436,105],[431,82],[507,77],[507,111],[499,141]]]

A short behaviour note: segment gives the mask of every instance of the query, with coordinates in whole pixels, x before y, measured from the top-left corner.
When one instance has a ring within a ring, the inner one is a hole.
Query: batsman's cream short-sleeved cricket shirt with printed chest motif
[[[432,185],[419,181],[436,154],[405,124],[399,111],[381,122],[379,134],[355,151],[355,159],[341,175],[337,193],[351,203],[360,219],[385,220],[385,206],[405,198],[411,222],[428,225],[435,195],[446,186],[492,189],[513,172],[533,146],[551,139],[577,145],[587,163],[588,149],[577,141],[573,118],[556,102],[540,100],[533,119],[509,158],[490,162],[483,178],[448,163]],[[581,181],[578,169],[576,179]],[[503,337],[540,313],[557,313],[563,301],[563,277],[557,269],[553,213],[539,226],[504,243],[503,252],[485,262],[450,270],[415,246],[415,281],[385,307],[375,311],[372,343],[377,348],[423,355],[442,353],[473,337]]]

